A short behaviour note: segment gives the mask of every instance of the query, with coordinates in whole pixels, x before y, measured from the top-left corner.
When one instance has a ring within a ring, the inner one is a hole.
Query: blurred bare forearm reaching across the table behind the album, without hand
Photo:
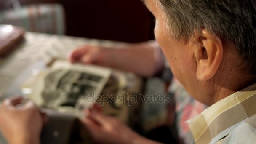
[[[154,42],[131,45],[127,48],[109,49],[108,59],[112,66],[124,71],[134,72],[144,77],[154,75],[163,67],[163,54]]]

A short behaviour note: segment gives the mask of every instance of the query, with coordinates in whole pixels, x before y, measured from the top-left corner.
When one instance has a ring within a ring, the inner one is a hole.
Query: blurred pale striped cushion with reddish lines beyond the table
[[[24,27],[27,31],[65,34],[64,10],[59,4],[24,6],[0,11],[0,24]]]

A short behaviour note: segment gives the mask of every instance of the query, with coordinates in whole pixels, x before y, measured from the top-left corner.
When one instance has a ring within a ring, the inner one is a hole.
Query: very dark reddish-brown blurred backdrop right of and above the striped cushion
[[[0,9],[11,8],[9,0]],[[60,3],[70,36],[124,42],[154,39],[154,18],[140,0],[19,0],[21,5]],[[9,3],[9,4],[8,4]]]

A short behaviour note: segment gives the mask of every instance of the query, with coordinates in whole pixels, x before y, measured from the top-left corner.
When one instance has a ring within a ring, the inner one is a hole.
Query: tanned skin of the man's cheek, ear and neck
[[[192,29],[193,33],[188,39],[186,37],[183,37],[180,40],[175,39],[175,37],[172,36],[174,34],[167,30],[172,24],[168,23],[168,25],[165,23],[167,19],[165,19],[163,16],[167,16],[166,11],[164,12],[162,9],[157,9],[156,7],[155,3],[158,3],[159,1],[165,0],[146,0],[147,7],[156,17],[155,37],[169,61],[173,75],[181,82],[190,95],[204,104],[211,105],[224,97],[229,96],[235,91],[243,89],[245,86],[248,86],[253,82],[253,76],[247,76],[244,78],[244,73],[240,70],[240,67],[237,67],[240,56],[236,50],[235,44],[229,43],[227,45],[226,43],[229,41],[221,38],[220,35],[215,34],[213,29],[209,28],[208,30],[207,24],[205,24],[204,28],[207,30],[207,39],[205,39],[206,41],[204,40],[206,43],[203,43],[203,41],[199,38],[203,35],[201,34],[201,28]],[[168,2],[176,2],[174,5],[177,5],[178,3],[178,1]],[[160,3],[159,5],[160,8],[164,8],[166,6],[163,3]],[[195,5],[192,3],[192,5],[189,6]],[[179,17],[177,21],[180,19],[182,18]],[[211,17],[207,19],[211,19]],[[173,24],[177,24],[177,21],[172,22]],[[197,25],[199,25],[199,23]],[[181,33],[185,32],[186,29],[183,29]],[[172,29],[172,32],[175,32],[175,29]],[[210,38],[210,41],[208,41],[208,38]],[[220,46],[220,44],[218,44],[218,40],[221,40],[222,42],[222,52],[220,52],[223,54],[219,53],[219,50],[217,51],[217,47]],[[208,42],[210,43],[207,44]],[[207,46],[205,49],[206,51],[203,51],[202,49],[205,47],[205,44]],[[200,55],[198,55],[199,57],[196,56],[200,51],[205,53],[205,58],[202,58]],[[208,55],[208,51],[210,52],[210,55]],[[203,60],[203,65],[198,65],[200,64],[199,61],[201,60]],[[214,62],[215,65],[211,66],[213,61],[216,61],[217,63]],[[205,66],[205,68],[203,68],[203,66]],[[205,80],[200,80],[198,77],[196,77],[197,69],[201,69],[201,74],[206,74]],[[204,69],[208,69],[206,71],[207,73],[204,72]]]

